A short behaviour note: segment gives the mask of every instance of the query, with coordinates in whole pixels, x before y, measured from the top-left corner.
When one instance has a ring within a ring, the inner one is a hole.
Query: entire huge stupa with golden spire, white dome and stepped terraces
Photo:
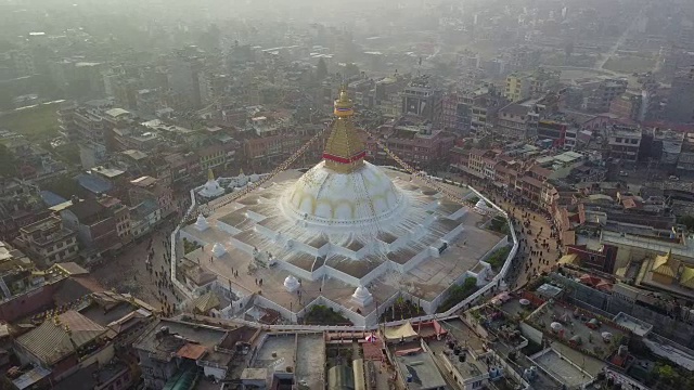
[[[468,212],[419,178],[367,161],[354,114],[344,88],[319,164],[282,171],[217,207],[206,231],[185,226],[183,237],[208,245],[223,242],[232,255],[200,263],[221,278],[232,269],[252,270],[247,285],[246,278],[233,277],[232,286],[256,290],[258,280],[282,286],[264,289],[262,297],[295,312],[300,308],[293,303],[299,299],[300,280],[305,303],[322,297],[365,316],[376,310],[376,301],[407,290],[433,313],[440,294],[505,243],[505,237],[480,227],[488,217]],[[235,179],[249,181],[242,174]],[[455,245],[461,236],[474,245]],[[267,259],[258,253],[267,253]],[[220,285],[229,283],[220,280]]]

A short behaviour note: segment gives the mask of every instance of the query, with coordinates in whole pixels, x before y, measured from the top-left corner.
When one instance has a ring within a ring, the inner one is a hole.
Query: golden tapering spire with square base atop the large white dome
[[[334,106],[337,118],[331,125],[331,134],[323,152],[325,167],[338,173],[354,172],[364,164],[367,152],[351,122],[355,110],[346,86],[340,88]]]

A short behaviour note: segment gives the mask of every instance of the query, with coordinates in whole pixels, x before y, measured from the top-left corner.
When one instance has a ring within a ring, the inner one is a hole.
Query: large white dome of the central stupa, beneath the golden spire
[[[284,196],[284,208],[309,224],[368,225],[397,214],[403,194],[378,167],[365,162],[349,173],[322,161],[306,172]]]

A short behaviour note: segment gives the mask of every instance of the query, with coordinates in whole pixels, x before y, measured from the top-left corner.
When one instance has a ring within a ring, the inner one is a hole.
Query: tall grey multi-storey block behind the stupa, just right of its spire
[[[410,81],[401,94],[402,115],[412,115],[432,123],[441,119],[444,94],[434,88],[428,76],[420,76]]]

